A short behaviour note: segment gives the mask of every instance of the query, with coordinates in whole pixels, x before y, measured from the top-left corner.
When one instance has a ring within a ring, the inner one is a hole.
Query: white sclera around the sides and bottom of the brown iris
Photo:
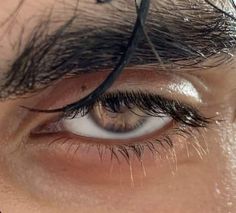
[[[155,131],[162,129],[164,126],[169,124],[172,118],[166,117],[148,117],[147,120],[138,128],[133,131],[126,133],[114,133],[106,129],[99,127],[89,114],[84,117],[77,117],[74,119],[65,119],[62,122],[62,126],[68,132],[75,135],[80,135],[84,137],[96,138],[96,139],[115,139],[115,140],[125,140],[138,138]]]

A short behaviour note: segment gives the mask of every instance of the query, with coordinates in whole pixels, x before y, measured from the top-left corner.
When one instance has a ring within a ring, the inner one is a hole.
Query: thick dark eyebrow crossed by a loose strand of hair
[[[235,48],[235,20],[202,1],[178,5],[153,4],[145,30],[164,65],[198,64]],[[48,34],[52,20],[41,21],[32,31],[1,83],[1,98],[23,95],[50,85],[64,76],[112,69],[124,54],[135,22],[135,9],[122,12],[121,19],[73,16]],[[123,15],[123,16],[122,16]],[[112,22],[112,24],[111,24]],[[88,23],[87,25],[85,23]],[[129,66],[160,65],[146,37]]]

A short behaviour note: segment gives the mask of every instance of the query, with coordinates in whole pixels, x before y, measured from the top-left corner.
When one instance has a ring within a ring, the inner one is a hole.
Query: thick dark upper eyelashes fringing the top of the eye
[[[203,116],[199,110],[176,100],[164,98],[162,96],[144,93],[141,91],[114,92],[101,96],[95,103],[80,108],[65,107],[65,118],[75,118],[84,116],[93,109],[96,104],[102,104],[107,110],[119,113],[122,106],[127,107],[132,112],[133,107],[137,107],[147,116],[162,117],[171,116],[176,122],[191,127],[207,127],[210,118]]]

